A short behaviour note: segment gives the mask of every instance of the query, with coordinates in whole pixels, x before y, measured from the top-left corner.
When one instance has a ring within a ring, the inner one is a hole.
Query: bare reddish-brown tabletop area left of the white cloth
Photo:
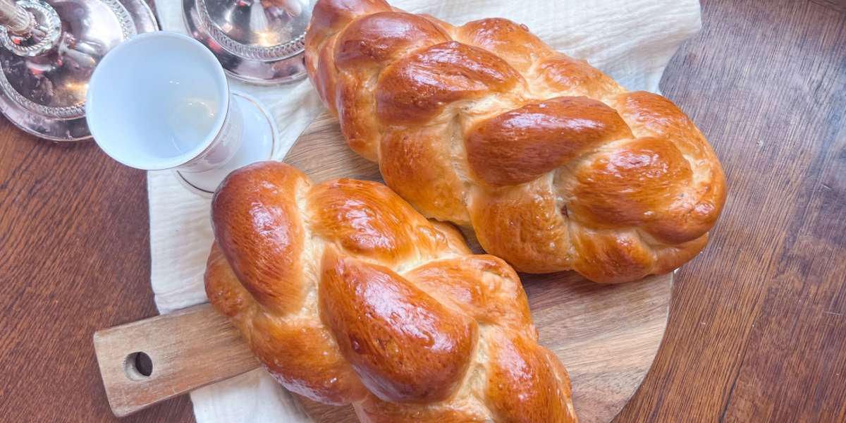
[[[144,173],[0,123],[3,421],[113,420],[91,334],[156,314]],[[190,421],[179,398],[129,421]]]

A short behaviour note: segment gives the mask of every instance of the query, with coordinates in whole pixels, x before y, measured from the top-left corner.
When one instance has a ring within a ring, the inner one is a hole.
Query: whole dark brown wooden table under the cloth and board
[[[846,2],[702,0],[663,91],[728,203],[619,421],[846,420]],[[156,314],[144,173],[0,122],[0,410],[113,420],[91,334]],[[129,421],[193,420],[178,398]]]

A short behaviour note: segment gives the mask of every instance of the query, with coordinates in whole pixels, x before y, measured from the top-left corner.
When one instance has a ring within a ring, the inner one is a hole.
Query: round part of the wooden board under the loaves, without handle
[[[382,181],[379,167],[346,145],[338,121],[316,118],[284,159],[321,181],[332,178]],[[472,233],[471,246],[481,252]],[[520,274],[541,343],[552,349],[573,381],[582,423],[607,422],[640,386],[667,327],[673,275],[620,285],[592,283],[575,272]],[[355,422],[352,407],[298,398],[316,421]]]

